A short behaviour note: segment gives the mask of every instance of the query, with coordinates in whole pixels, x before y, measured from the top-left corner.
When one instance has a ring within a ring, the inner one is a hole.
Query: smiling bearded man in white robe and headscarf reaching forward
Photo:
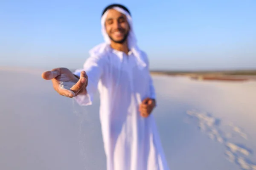
[[[42,77],[80,105],[91,105],[99,90],[107,170],[169,170],[151,114],[156,96],[148,58],[137,47],[131,14],[112,4],[101,23],[105,42],[90,50],[83,69],[55,68]]]

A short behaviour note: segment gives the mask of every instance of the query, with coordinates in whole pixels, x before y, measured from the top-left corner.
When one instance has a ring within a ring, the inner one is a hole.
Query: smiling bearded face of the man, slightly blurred
[[[125,42],[130,30],[125,14],[110,9],[105,22],[105,29],[113,42]]]

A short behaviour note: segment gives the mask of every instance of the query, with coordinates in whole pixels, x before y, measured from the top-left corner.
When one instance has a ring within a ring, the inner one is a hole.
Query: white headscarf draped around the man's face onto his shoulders
[[[120,8],[120,7],[113,7],[113,9],[115,9],[116,11],[119,11],[121,12],[122,14],[125,14],[127,20],[128,20],[128,23],[129,23],[129,26],[130,26],[130,31],[129,31],[129,34],[128,34],[128,37],[127,37],[127,41],[128,41],[128,48],[130,49],[130,51],[132,51],[134,53],[134,56],[137,58],[137,64],[140,68],[144,68],[146,66],[145,62],[143,61],[142,59],[142,53],[140,51],[140,49],[138,48],[137,46],[137,39],[135,37],[135,34],[134,34],[134,30],[133,30],[133,24],[132,24],[132,19],[131,19],[131,15],[125,11],[124,9]],[[108,12],[109,10],[107,10],[103,15],[102,15],[102,18],[101,18],[101,26],[102,26],[102,35],[104,37],[104,40],[105,42],[99,44],[99,45],[96,45],[95,47],[93,47],[89,53],[90,55],[98,55],[100,53],[103,53],[103,52],[106,52],[106,48],[108,47],[108,45],[110,45],[111,43],[111,40],[105,30],[105,20],[106,20],[106,17],[108,15]]]

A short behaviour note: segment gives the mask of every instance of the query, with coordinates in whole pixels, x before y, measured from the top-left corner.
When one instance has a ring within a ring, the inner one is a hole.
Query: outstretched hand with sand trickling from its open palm
[[[52,71],[45,71],[42,78],[52,80],[53,88],[61,96],[72,98],[78,94],[86,94],[88,77],[85,71],[81,71],[79,78],[67,68],[55,68]]]

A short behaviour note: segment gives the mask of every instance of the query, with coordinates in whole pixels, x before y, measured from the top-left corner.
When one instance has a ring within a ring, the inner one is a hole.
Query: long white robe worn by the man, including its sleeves
[[[133,53],[108,47],[100,56],[91,56],[82,70],[88,76],[87,95],[76,96],[80,105],[91,105],[97,88],[100,94],[100,122],[107,158],[107,170],[169,170],[158,136],[154,116],[140,116],[139,105],[156,98],[147,64],[139,69]]]

